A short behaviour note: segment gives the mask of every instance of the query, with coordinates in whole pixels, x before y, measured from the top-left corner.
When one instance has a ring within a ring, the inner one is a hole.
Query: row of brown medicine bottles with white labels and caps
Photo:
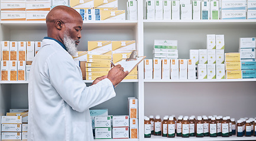
[[[232,135],[240,136],[256,136],[256,120],[247,117],[238,120],[237,125],[235,119],[229,116],[179,116],[178,120],[175,115],[170,117],[164,116],[163,121],[160,116],[145,117],[144,120],[144,137],[164,136],[164,137],[229,137]]]

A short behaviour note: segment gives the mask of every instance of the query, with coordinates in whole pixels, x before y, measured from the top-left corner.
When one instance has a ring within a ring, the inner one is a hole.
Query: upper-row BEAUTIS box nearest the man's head
[[[27,1],[26,11],[50,11],[51,2],[49,1]]]

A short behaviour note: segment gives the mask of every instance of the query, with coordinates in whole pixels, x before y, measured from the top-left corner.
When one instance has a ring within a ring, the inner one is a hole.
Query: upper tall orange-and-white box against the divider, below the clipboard
[[[137,119],[138,118],[138,99],[128,98],[128,108],[129,108],[129,118]]]

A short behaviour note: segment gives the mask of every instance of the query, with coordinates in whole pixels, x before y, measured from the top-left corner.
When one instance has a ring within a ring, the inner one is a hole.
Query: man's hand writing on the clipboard
[[[124,68],[122,68],[121,65],[116,65],[109,70],[107,78],[111,80],[112,84],[115,86],[120,83],[128,73],[128,71],[124,72]]]

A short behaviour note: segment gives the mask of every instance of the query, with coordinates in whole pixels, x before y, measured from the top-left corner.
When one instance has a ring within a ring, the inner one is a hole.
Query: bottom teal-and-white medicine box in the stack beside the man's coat
[[[96,127],[95,139],[112,139],[111,127]]]

